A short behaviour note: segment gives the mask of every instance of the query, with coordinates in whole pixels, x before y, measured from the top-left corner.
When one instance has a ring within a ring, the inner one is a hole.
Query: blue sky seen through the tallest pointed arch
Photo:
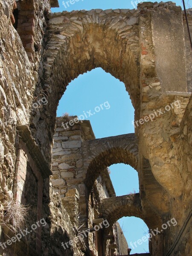
[[[57,116],[65,112],[90,120],[96,138],[134,133],[134,108],[125,84],[101,68],[71,81],[59,102]]]

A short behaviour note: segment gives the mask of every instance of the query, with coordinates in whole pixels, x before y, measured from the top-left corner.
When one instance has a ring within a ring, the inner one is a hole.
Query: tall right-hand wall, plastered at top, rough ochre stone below
[[[151,3],[143,3],[139,5],[141,6],[141,10],[143,12],[143,15],[141,15],[140,17],[140,22],[142,24],[140,39],[143,47],[145,47],[144,50],[149,49],[148,47],[150,47],[151,45],[154,47],[154,52],[148,52],[146,50],[146,52],[143,52],[141,55],[142,103],[140,109],[140,120],[144,121],[145,118],[145,121],[142,124],[140,123],[139,128],[137,128],[138,130],[140,130],[138,134],[139,166],[141,165],[138,172],[140,177],[140,188],[146,188],[147,186],[149,186],[149,184],[146,184],[148,183],[148,181],[143,179],[145,175],[145,169],[143,168],[143,165],[141,163],[143,163],[143,157],[145,159],[148,159],[150,162],[148,170],[150,170],[151,168],[151,172],[154,175],[155,180],[165,190],[164,192],[162,190],[163,196],[160,196],[160,191],[153,190],[151,191],[151,197],[150,193],[148,193],[150,190],[147,193],[146,191],[144,191],[141,198],[147,198],[147,201],[145,201],[145,203],[143,200],[144,214],[146,210],[145,207],[147,208],[147,204],[152,204],[154,211],[161,216],[161,221],[158,224],[160,225],[160,228],[161,224],[166,223],[166,221],[169,221],[171,218],[175,218],[177,220],[176,226],[172,226],[169,229],[164,230],[160,234],[160,236],[156,236],[154,238],[156,241],[151,244],[151,254],[158,255],[158,253],[162,253],[162,255],[165,256],[183,256],[188,255],[189,251],[191,250],[189,246],[189,224],[186,224],[190,222],[189,212],[191,209],[189,203],[189,201],[191,200],[191,195],[189,195],[188,189],[189,184],[186,185],[186,183],[187,180],[190,180],[188,181],[189,183],[191,182],[191,176],[188,171],[189,167],[183,166],[186,165],[186,160],[184,160],[184,158],[181,156],[181,152],[184,151],[185,153],[183,154],[186,155],[188,155],[188,153],[186,152],[186,150],[184,150],[184,148],[183,151],[180,148],[180,143],[183,145],[183,141],[181,142],[182,135],[180,135],[180,133],[182,131],[181,124],[183,122],[183,116],[186,113],[186,107],[189,104],[189,97],[191,94],[186,93],[187,83],[185,71],[183,71],[180,76],[180,78],[183,77],[182,83],[174,82],[175,78],[173,78],[172,76],[176,75],[177,69],[179,69],[179,72],[181,72],[179,66],[175,67],[174,72],[172,72],[171,76],[167,76],[167,79],[169,78],[169,81],[163,78],[163,76],[166,75],[166,71],[164,72],[164,75],[159,73],[161,61],[159,55],[161,52],[161,47],[159,47],[159,43],[164,35],[169,35],[169,37],[175,38],[180,35],[180,37],[184,38],[182,27],[180,28],[180,32],[173,32],[172,35],[166,33],[166,30],[170,29],[170,20],[175,19],[176,17],[182,20],[183,16],[179,7],[175,8],[174,6],[170,6],[167,8],[167,10],[159,9],[159,12],[162,15],[165,15],[165,13],[168,12],[172,12],[172,15],[170,13],[169,17],[167,16],[163,18],[163,24],[160,25],[160,23],[158,23],[156,14],[153,11],[151,12],[150,5]],[[149,19],[149,15],[151,15],[151,21]],[[173,21],[173,24],[176,23],[176,20]],[[182,24],[182,21],[180,21],[180,24]],[[177,26],[177,28],[179,27]],[[164,33],[164,35],[162,35],[162,38],[159,38],[160,30]],[[166,47],[166,44],[162,45],[163,47]],[[183,61],[185,58],[185,45],[178,44],[177,47],[177,49],[180,49],[177,57],[181,54],[180,58],[182,58]],[[170,49],[170,47],[168,47],[167,49]],[[172,61],[170,61],[169,59],[169,62],[167,62],[166,57],[163,58],[162,61],[164,64],[162,64],[161,66],[163,68],[167,67],[167,70],[169,70],[168,66],[170,63],[172,63]],[[188,62],[187,65],[188,67],[190,67],[190,62]],[[183,66],[185,66],[185,64],[183,64]],[[161,70],[161,72],[162,71],[163,69]],[[189,84],[189,75],[187,75],[187,77]],[[170,83],[174,83],[174,85],[170,87]],[[175,105],[172,108],[170,107],[169,109],[169,106],[171,106],[173,102],[177,102],[178,105],[175,103]],[[162,111],[162,114],[155,115],[155,111],[156,113],[158,113],[159,110]],[[150,114],[154,114],[154,119],[146,119],[146,117]],[[185,126],[185,128],[183,127],[186,134],[188,133],[187,127],[188,126]],[[187,147],[189,148],[189,146]],[[152,184],[153,183],[151,183],[151,189],[153,189]],[[154,202],[157,201],[157,198],[160,209],[158,209],[159,207],[155,206],[154,204]],[[161,212],[160,214],[161,210],[163,210],[163,212]],[[182,241],[182,237],[185,237],[185,242]],[[177,247],[179,247],[180,249],[177,249]]]

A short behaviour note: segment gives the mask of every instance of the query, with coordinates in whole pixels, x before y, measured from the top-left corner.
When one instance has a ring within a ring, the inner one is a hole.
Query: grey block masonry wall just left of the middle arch
[[[79,124],[64,129],[57,122],[52,148],[52,186],[54,191],[65,197],[65,193],[76,188],[82,194],[81,127]]]

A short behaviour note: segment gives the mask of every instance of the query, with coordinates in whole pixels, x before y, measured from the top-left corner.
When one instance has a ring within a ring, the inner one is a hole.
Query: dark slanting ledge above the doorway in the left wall
[[[26,147],[29,150],[29,154],[31,154],[32,159],[37,164],[38,169],[42,174],[42,177],[44,179],[48,178],[50,175],[52,175],[52,172],[49,166],[47,165],[47,162],[45,161],[39,146],[35,143],[35,140],[32,138],[31,131],[29,130],[28,126],[18,125],[17,131],[19,133],[19,136],[22,138],[23,142],[26,143]]]

